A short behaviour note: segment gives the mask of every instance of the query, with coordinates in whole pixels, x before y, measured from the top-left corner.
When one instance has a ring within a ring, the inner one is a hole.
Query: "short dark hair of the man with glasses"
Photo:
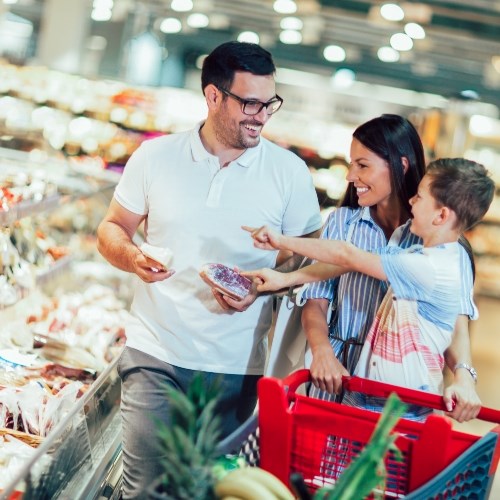
[[[203,61],[201,89],[204,91],[212,83],[229,90],[237,71],[272,75],[276,66],[271,54],[256,43],[226,42],[216,47]]]

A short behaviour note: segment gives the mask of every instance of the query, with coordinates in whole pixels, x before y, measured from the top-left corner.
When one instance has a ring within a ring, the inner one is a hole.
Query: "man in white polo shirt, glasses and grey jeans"
[[[258,221],[292,236],[321,226],[304,162],[261,138],[283,102],[274,73],[271,55],[258,45],[217,47],[201,76],[207,119],[192,131],[143,143],[98,228],[102,255],[141,279],[118,366],[124,498],[140,497],[161,473],[154,419],[168,419],[165,384],[186,390],[196,371],[207,381],[219,378],[223,435],[255,408],[271,297],[256,291],[241,301],[223,296],[201,280],[200,267],[275,267],[291,255],[252,248],[242,224]],[[132,241],[143,221],[147,243],[173,251],[172,268],[162,268]]]

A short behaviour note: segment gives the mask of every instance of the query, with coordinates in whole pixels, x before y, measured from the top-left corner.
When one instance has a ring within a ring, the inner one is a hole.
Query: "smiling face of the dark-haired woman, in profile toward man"
[[[391,171],[388,163],[355,138],[351,142],[347,181],[353,183],[361,207],[378,205],[391,198]]]

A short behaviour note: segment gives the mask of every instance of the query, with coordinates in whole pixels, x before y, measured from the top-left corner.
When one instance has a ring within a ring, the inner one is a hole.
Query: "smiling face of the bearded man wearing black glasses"
[[[236,72],[230,89],[234,95],[247,100],[268,102],[276,96],[274,77],[248,72]],[[247,149],[259,144],[262,128],[269,120],[266,108],[249,116],[243,113],[242,103],[221,92],[220,105],[213,112],[217,140],[228,148]]]

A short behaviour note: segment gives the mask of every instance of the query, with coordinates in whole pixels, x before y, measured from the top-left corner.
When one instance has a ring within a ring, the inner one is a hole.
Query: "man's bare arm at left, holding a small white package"
[[[169,278],[174,271],[146,257],[132,241],[145,216],[122,207],[114,198],[106,216],[97,228],[97,249],[113,266],[135,273],[146,283]]]

